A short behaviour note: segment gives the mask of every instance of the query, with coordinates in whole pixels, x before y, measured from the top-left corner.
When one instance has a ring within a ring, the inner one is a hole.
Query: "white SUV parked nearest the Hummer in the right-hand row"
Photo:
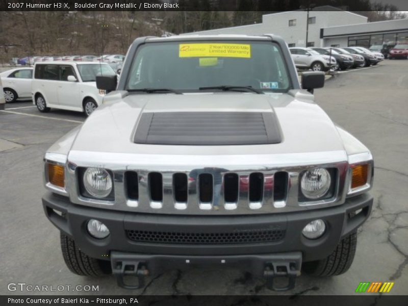
[[[311,48],[293,47],[289,50],[297,68],[327,71],[331,66],[336,65],[334,57],[321,55]]]

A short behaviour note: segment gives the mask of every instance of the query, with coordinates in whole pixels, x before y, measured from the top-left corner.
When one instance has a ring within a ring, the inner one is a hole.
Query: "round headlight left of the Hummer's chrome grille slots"
[[[105,198],[112,191],[112,177],[103,168],[88,168],[84,172],[85,190],[95,198]]]

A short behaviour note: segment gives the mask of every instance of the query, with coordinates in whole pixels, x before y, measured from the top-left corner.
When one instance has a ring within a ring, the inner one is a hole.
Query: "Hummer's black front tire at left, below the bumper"
[[[75,241],[61,233],[61,250],[65,264],[75,274],[105,276],[112,273],[109,261],[89,257],[75,244]]]

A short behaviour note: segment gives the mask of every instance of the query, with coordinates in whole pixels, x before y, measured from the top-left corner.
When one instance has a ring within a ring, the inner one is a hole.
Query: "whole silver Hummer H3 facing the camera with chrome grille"
[[[300,86],[274,35],[137,38],[119,80],[97,77],[104,104],[45,154],[43,206],[69,269],[140,288],[231,265],[273,290],[347,271],[373,158],[315,103],[323,84],[305,72]]]

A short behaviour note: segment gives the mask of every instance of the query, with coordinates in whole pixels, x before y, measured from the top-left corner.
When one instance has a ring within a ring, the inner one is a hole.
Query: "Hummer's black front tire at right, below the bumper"
[[[352,233],[343,238],[336,249],[327,258],[306,262],[303,271],[313,276],[333,276],[346,272],[354,259],[355,247],[357,245],[357,234]]]

